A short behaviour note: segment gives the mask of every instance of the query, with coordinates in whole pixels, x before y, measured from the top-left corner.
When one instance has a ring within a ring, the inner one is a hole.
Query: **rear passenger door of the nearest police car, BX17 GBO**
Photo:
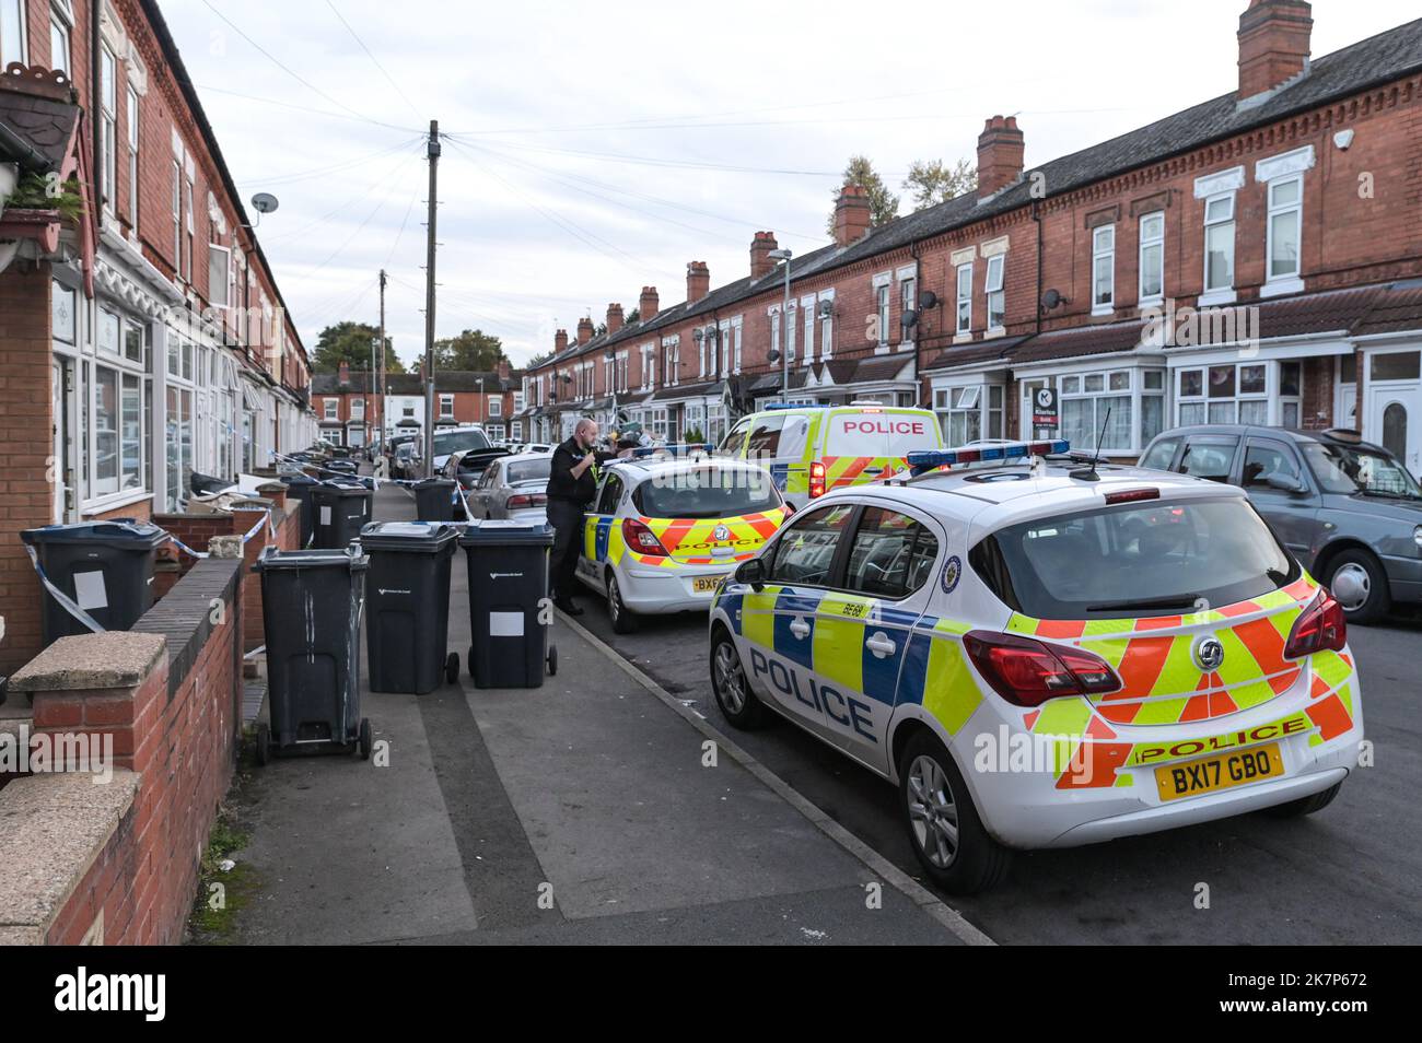
[[[842,578],[815,611],[815,681],[825,726],[845,753],[889,772],[889,720],[914,624],[927,608],[937,526],[896,504],[865,504]]]

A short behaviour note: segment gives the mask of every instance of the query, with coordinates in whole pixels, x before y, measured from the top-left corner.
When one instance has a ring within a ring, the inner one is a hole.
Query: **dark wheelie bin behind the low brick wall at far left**
[[[128,629],[154,604],[154,561],[168,533],[129,517],[26,529],[50,583],[104,629]],[[90,628],[44,591],[44,644]]]

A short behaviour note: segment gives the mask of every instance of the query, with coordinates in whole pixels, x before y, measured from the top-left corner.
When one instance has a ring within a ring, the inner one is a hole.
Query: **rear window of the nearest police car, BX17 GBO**
[[[968,557],[1038,620],[1179,615],[1260,597],[1298,564],[1247,500],[1153,500],[1001,529]]]

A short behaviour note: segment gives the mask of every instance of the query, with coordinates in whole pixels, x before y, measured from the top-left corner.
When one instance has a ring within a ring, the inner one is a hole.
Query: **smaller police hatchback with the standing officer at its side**
[[[791,514],[764,469],[710,449],[637,449],[602,469],[577,577],[607,598],[619,634],[636,631],[640,614],[708,608]]]

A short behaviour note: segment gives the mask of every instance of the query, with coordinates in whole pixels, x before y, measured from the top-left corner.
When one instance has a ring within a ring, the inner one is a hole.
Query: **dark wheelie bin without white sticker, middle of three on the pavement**
[[[459,679],[449,652],[449,561],[459,530],[444,522],[371,522],[360,530],[370,691],[425,695]]]

